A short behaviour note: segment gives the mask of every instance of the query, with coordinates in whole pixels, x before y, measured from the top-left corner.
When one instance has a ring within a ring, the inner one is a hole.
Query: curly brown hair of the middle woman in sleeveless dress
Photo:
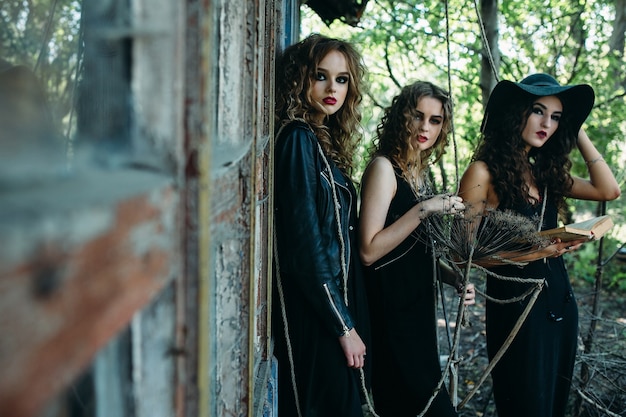
[[[439,100],[443,107],[443,125],[435,144],[420,153],[419,161],[410,161],[413,153],[411,138],[413,120],[416,109],[423,97]],[[376,137],[369,149],[370,159],[375,156],[386,156],[391,163],[399,168],[405,176],[409,175],[409,164],[418,163],[420,175],[428,168],[428,158],[434,155],[437,162],[445,153],[448,144],[448,133],[452,127],[452,100],[447,91],[428,81],[417,81],[402,88],[395,96],[391,105],[385,109],[384,115],[376,128]]]

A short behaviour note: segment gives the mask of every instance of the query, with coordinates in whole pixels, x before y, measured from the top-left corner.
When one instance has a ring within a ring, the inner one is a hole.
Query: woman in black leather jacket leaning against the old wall
[[[278,409],[361,417],[367,299],[350,174],[360,139],[361,57],[311,35],[277,61],[275,300]]]

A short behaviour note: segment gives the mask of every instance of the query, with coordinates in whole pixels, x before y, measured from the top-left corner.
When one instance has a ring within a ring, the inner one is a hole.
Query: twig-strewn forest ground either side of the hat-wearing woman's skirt
[[[584,353],[584,341],[588,337],[593,311],[593,286],[574,283],[580,314],[579,350],[574,371],[574,383],[570,394],[568,416],[625,416],[626,415],[626,303],[623,292],[603,289],[599,298],[599,310],[593,343],[589,353]],[[445,291],[449,313],[455,313],[453,291]],[[451,308],[452,307],[452,308]],[[451,310],[451,311],[450,311]],[[477,297],[477,304],[468,310],[471,326],[462,328],[460,352],[463,361],[459,368],[458,398],[462,401],[477,383],[487,366],[485,344],[484,299]],[[440,321],[440,324],[443,324]],[[442,353],[445,353],[447,336],[440,327]],[[451,329],[453,332],[453,329]],[[587,366],[590,382],[583,384],[583,371]],[[578,394],[582,392],[584,400]],[[580,414],[576,413],[582,401]],[[476,394],[459,410],[463,417],[497,417],[491,395],[491,379],[488,377]]]

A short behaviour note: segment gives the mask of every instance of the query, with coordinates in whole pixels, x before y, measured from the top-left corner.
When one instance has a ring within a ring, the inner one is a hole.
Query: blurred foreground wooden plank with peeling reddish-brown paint
[[[172,278],[176,206],[170,187],[125,199],[99,235],[42,237],[30,259],[3,265],[0,415],[35,415]]]

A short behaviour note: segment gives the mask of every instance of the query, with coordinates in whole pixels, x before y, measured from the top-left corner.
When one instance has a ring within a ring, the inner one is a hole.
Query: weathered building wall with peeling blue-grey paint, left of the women
[[[76,111],[58,161],[0,141],[0,415],[275,415],[273,65],[299,2],[38,3],[80,27]]]

